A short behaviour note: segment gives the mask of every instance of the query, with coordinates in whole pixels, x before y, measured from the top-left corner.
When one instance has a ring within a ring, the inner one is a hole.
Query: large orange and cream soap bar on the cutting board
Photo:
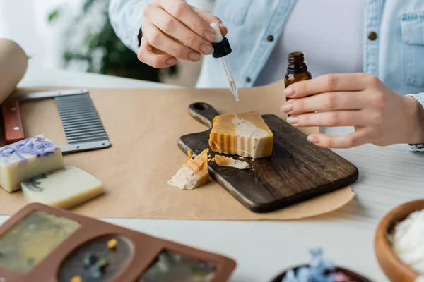
[[[270,156],[272,145],[273,133],[258,111],[213,118],[209,146],[214,152],[257,159]]]

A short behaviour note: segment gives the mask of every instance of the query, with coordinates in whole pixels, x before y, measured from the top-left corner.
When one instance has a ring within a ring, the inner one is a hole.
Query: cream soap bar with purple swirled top
[[[7,192],[20,189],[23,180],[63,167],[59,147],[45,135],[0,148],[0,185]]]

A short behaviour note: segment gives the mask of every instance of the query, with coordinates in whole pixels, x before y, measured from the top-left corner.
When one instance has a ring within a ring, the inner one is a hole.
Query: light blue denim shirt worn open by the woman
[[[143,8],[153,0],[111,0],[117,35],[137,51]],[[228,56],[239,87],[252,87],[283,32],[296,0],[216,0],[213,13],[228,27]],[[376,75],[424,106],[424,0],[367,0],[363,72]],[[335,25],[337,23],[334,23]],[[368,38],[371,32],[377,39]],[[331,44],[331,42],[329,42]],[[228,87],[220,61],[205,56],[198,87]]]

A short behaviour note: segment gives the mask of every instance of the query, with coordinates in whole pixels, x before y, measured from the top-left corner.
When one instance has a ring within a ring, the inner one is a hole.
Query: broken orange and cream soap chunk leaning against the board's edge
[[[187,159],[184,166],[167,183],[182,190],[192,190],[208,183],[208,152],[209,149],[205,149],[194,159]],[[191,155],[189,152],[189,156]]]

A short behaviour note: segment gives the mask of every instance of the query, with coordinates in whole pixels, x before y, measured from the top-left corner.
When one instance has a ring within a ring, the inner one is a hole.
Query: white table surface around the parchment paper
[[[172,87],[32,65],[19,86]],[[355,199],[325,216],[301,221],[103,220],[228,255],[237,261],[230,281],[269,281],[289,266],[308,262],[313,247],[323,247],[325,256],[338,265],[373,281],[387,281],[375,259],[375,228],[396,205],[424,197],[424,154],[408,152],[406,145],[335,151],[358,166],[360,177],[352,185]],[[0,223],[6,219],[0,216]]]

